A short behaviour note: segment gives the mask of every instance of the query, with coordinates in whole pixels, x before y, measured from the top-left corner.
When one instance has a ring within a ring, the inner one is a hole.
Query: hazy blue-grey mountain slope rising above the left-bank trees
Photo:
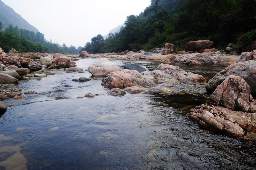
[[[28,23],[20,15],[18,15],[11,7],[5,5],[4,2],[0,0],[0,21],[4,28],[9,27],[10,24],[13,26],[18,26],[18,28],[28,29],[35,33],[38,29]]]

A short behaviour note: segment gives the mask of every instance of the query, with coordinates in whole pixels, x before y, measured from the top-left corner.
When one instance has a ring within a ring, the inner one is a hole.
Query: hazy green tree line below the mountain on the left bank
[[[19,29],[17,26],[10,25],[4,30],[0,22],[0,47],[9,52],[14,48],[20,53],[23,52],[40,52],[40,53],[62,53],[62,54],[79,54],[82,47],[76,48],[73,45],[67,47],[65,44],[59,46],[53,44],[52,40],[47,42],[44,34],[34,33],[30,30]]]

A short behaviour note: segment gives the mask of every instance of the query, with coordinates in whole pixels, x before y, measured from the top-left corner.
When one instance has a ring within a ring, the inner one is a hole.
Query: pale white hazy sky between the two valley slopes
[[[150,0],[2,0],[44,34],[67,46],[84,46],[91,38],[109,33],[139,15]]]

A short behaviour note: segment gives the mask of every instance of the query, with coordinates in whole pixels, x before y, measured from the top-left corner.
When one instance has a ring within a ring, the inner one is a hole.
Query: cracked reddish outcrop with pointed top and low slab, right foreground
[[[209,130],[256,140],[256,101],[244,79],[229,75],[188,118]],[[254,136],[254,137],[253,137]]]

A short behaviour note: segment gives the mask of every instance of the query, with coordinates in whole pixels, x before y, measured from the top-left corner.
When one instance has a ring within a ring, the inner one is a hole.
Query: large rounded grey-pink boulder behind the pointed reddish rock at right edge
[[[244,61],[225,68],[206,84],[206,90],[212,93],[229,75],[237,75],[250,86],[252,96],[256,95],[256,61]]]

